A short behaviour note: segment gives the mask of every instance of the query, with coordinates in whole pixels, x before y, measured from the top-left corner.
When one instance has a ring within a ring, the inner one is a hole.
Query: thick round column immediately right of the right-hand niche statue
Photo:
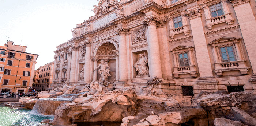
[[[149,17],[144,21],[144,25],[146,25],[148,31],[148,52],[150,54],[149,62],[151,62],[149,64],[149,72],[151,78],[162,78],[160,50],[157,38],[157,23],[158,20],[156,17]]]

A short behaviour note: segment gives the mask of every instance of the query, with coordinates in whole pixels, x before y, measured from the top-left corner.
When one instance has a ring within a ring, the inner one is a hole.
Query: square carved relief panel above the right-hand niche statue
[[[132,31],[132,44],[146,42],[146,29],[140,27]]]

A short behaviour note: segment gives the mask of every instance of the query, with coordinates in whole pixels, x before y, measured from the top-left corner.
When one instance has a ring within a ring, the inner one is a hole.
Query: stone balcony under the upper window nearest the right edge
[[[215,25],[215,24],[226,22],[227,25],[232,25],[234,23],[234,19],[231,17],[230,13],[217,16],[217,17],[212,17],[212,18],[206,19],[205,21],[206,21],[206,27],[208,28],[208,30],[211,30],[212,25]]]

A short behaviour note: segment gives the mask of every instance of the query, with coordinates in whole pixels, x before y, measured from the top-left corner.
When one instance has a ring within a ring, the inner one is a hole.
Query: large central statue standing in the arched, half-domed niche
[[[96,67],[93,71],[97,70],[99,67],[101,67],[98,72],[101,75],[101,78],[99,78],[99,81],[108,81],[108,76],[111,76],[109,74],[109,66],[108,64],[105,64],[103,60],[101,60],[101,64],[99,64],[98,67]],[[107,68],[108,67],[108,68]]]

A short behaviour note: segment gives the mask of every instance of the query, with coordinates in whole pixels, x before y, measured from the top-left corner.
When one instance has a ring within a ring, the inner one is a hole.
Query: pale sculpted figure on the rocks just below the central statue
[[[106,92],[109,92],[108,88],[105,86],[101,86],[98,81],[93,81],[90,84],[90,91],[84,93],[80,96],[82,98],[84,95],[99,95],[99,94],[105,94]]]

